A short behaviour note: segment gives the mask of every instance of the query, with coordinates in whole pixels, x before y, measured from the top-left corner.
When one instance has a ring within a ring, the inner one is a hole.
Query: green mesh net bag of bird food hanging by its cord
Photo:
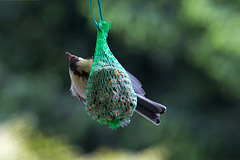
[[[110,23],[101,17],[99,24],[95,21],[95,25],[98,28],[97,42],[86,88],[85,109],[94,120],[110,124],[110,128],[117,128],[132,116],[137,97],[126,70],[107,44]]]

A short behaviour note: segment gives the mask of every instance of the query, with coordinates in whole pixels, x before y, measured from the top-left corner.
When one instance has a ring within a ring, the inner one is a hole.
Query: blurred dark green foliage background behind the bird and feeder
[[[65,52],[95,48],[88,0],[1,1],[0,159],[240,159],[240,1],[102,7],[112,52],[168,107],[161,125],[134,114],[111,130],[71,96]]]

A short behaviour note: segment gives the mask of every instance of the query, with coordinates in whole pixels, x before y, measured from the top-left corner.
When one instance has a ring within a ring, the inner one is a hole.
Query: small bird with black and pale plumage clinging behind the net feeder
[[[66,52],[69,58],[69,75],[71,79],[70,91],[73,96],[77,97],[84,105],[86,104],[86,87],[91,72],[94,58],[81,58]],[[151,121],[155,125],[160,124],[160,115],[164,114],[167,108],[157,102],[145,97],[145,91],[141,82],[130,72],[127,72],[132,82],[133,89],[137,96],[137,107],[135,112]],[[121,127],[127,126],[130,118],[120,124]]]

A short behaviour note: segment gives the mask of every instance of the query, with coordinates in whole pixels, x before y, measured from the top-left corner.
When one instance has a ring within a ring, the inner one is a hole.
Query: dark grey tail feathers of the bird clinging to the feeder
[[[166,107],[138,94],[137,102],[138,105],[135,111],[154,124],[159,125],[160,114],[165,113]]]

